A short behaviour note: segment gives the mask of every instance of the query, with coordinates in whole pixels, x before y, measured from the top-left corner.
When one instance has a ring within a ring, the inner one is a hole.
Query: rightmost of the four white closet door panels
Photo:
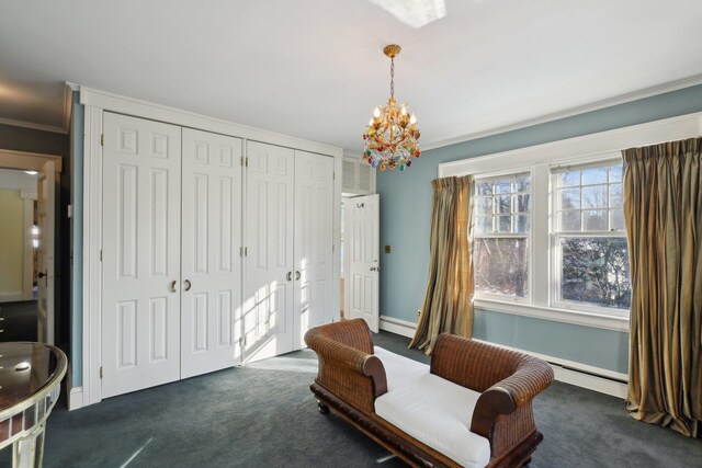
[[[307,330],[331,321],[333,159],[295,151],[295,349]]]

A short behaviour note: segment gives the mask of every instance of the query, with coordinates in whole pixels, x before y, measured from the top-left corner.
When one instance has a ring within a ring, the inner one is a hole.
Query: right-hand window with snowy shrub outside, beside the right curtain
[[[626,312],[629,251],[622,163],[553,170],[555,301]]]

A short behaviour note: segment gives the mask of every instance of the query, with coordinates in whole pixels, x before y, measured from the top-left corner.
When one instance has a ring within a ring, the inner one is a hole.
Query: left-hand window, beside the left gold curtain
[[[473,252],[476,292],[529,297],[529,173],[475,181]]]

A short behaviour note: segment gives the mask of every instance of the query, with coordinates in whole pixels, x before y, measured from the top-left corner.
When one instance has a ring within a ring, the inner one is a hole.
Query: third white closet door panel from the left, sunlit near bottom
[[[244,333],[245,357],[252,361],[294,349],[295,152],[249,141],[247,158]]]

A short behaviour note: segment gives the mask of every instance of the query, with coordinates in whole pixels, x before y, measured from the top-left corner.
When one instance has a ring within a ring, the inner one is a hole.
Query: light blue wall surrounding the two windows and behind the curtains
[[[417,322],[429,267],[429,226],[438,164],[605,132],[702,111],[702,85],[659,94],[422,153],[404,172],[377,174],[381,194],[381,315]],[[529,319],[476,313],[475,336],[605,369],[626,373],[627,334]]]

